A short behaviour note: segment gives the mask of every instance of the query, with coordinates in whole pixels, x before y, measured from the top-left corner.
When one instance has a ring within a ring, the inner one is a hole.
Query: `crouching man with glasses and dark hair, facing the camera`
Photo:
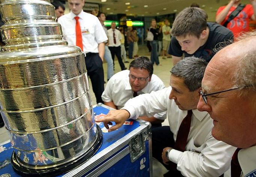
[[[105,105],[120,109],[130,98],[158,91],[164,87],[163,81],[153,74],[153,65],[149,58],[139,57],[130,63],[129,70],[120,71],[110,78],[101,98]],[[151,122],[152,128],[161,126],[165,118],[166,112],[140,117]]]

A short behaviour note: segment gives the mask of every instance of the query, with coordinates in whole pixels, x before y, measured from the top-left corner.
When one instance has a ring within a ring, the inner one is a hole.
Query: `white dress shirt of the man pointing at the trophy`
[[[151,92],[135,97],[125,104],[122,109],[130,113],[130,118],[137,119],[140,115],[154,115],[167,110],[170,130],[176,141],[179,126],[187,115],[180,110],[174,100],[169,99],[171,87],[161,91]],[[192,110],[192,120],[188,135],[186,151],[172,149],[170,161],[177,164],[177,169],[187,177],[218,177],[230,167],[230,161],[235,147],[216,140],[211,135],[212,119],[207,112]]]

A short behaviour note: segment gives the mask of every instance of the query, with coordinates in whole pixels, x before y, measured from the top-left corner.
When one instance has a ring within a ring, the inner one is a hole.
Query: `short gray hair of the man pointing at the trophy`
[[[184,79],[185,85],[192,92],[201,87],[207,64],[201,58],[186,57],[174,65],[170,72],[173,76]]]

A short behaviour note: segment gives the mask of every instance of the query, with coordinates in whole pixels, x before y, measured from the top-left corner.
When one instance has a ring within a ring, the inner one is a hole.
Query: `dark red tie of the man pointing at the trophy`
[[[182,120],[173,149],[184,152],[190,131],[192,110],[188,110],[187,116]]]

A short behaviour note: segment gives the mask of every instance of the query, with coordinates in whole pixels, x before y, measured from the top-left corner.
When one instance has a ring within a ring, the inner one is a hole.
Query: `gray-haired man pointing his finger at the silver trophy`
[[[167,111],[170,127],[152,130],[153,157],[170,170],[164,176],[221,176],[229,169],[235,148],[212,137],[209,114],[196,109],[206,65],[195,57],[179,61],[171,70],[169,88],[130,99],[96,122],[104,122],[106,128],[109,121],[116,122],[108,129],[113,131],[128,118]]]

